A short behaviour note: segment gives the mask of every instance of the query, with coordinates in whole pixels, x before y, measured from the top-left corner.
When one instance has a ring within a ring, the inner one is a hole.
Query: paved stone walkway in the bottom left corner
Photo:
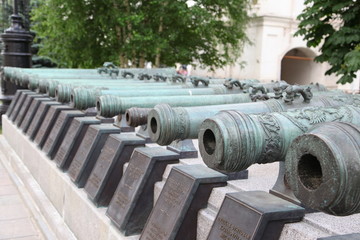
[[[42,240],[40,230],[0,161],[0,240]]]

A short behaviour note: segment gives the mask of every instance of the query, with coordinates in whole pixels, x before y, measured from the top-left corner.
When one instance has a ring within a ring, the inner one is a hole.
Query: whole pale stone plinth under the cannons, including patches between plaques
[[[58,239],[125,239],[105,216],[106,208],[96,208],[69,177],[58,170],[28,137],[22,134],[6,116],[3,116],[3,134],[0,137],[0,160],[11,166],[31,196],[38,212],[38,223],[48,236]],[[194,144],[197,146],[197,144]],[[151,147],[151,145],[147,145]],[[158,145],[154,145],[158,146]],[[200,158],[180,160],[168,165],[163,180],[155,184],[154,199],[158,198],[173,166],[203,164]],[[205,240],[226,193],[238,191],[269,191],[277,178],[278,164],[254,165],[249,178],[228,181],[226,187],[214,188],[208,206],[198,213],[197,239]],[[20,184],[20,185],[21,185]],[[25,192],[25,191],[24,191]],[[25,197],[26,199],[26,197]],[[35,210],[34,210],[35,211]],[[316,240],[319,237],[343,235],[359,231],[360,214],[334,217],[324,213],[309,213],[298,223],[286,224],[280,240]],[[45,234],[46,235],[46,234]]]

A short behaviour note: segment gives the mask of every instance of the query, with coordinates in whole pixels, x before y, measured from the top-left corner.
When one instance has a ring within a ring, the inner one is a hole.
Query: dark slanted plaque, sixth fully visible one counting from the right
[[[56,165],[63,171],[67,171],[81,142],[84,139],[85,133],[90,125],[100,124],[100,120],[95,117],[81,117],[74,118],[71,122],[69,130],[64,136],[59,150],[57,151],[54,161]]]

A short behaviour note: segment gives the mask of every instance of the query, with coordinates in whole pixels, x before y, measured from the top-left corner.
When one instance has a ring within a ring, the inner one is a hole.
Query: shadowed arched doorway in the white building
[[[319,81],[321,65],[316,54],[308,48],[293,48],[281,60],[281,80],[289,84],[310,84]]]

